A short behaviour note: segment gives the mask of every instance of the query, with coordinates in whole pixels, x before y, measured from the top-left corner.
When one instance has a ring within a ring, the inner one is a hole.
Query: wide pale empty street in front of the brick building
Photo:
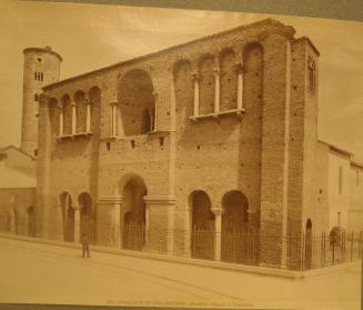
[[[0,238],[0,302],[360,309],[360,268],[288,280]]]

